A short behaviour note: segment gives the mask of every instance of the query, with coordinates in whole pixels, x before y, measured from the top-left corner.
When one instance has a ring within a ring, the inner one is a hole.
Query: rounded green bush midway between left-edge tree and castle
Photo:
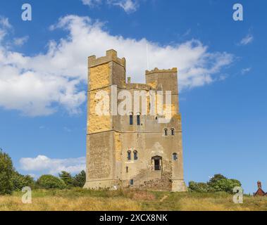
[[[37,186],[39,188],[45,188],[45,189],[51,189],[51,188],[58,188],[63,189],[66,188],[66,184],[63,180],[59,179],[56,176],[53,175],[42,175],[39,177],[39,179],[36,182]]]

